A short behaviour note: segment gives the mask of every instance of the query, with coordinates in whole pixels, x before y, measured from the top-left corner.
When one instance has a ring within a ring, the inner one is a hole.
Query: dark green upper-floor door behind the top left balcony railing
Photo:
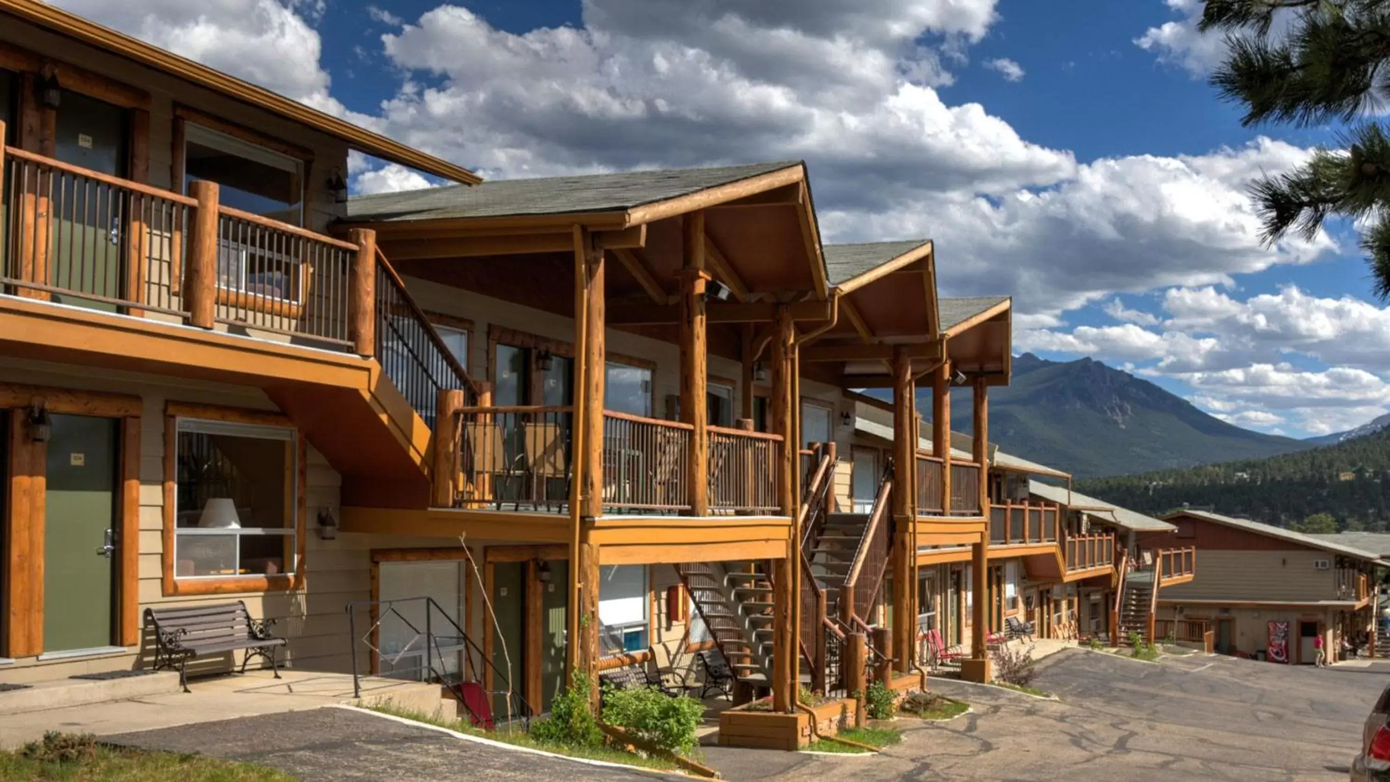
[[[57,160],[111,176],[125,176],[126,111],[71,90],[63,92],[54,129]],[[51,283],[108,299],[122,297],[121,236],[129,215],[113,190],[71,176],[53,183]],[[114,311],[115,304],[54,294],[54,301]]]

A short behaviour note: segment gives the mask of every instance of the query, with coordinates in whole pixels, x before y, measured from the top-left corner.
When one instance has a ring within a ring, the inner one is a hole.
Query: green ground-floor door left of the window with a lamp
[[[43,650],[111,644],[117,419],[53,415],[43,533]]]

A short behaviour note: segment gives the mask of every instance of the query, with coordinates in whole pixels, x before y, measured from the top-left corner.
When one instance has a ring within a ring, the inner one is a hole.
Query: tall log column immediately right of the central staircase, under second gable
[[[902,347],[892,356],[892,653],[894,667],[912,669],[912,647],[917,629],[917,521],[912,474],[916,468],[916,401],[912,360]]]

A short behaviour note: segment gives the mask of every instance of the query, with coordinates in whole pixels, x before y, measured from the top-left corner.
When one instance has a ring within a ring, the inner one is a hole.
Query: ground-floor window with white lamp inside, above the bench
[[[295,429],[175,421],[174,578],[296,572]]]

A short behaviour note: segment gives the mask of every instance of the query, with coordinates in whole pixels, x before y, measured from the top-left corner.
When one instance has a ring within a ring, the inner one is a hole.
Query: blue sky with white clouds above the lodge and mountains
[[[1265,246],[1247,196],[1339,128],[1241,126],[1201,0],[56,1],[489,179],[805,160],[826,242],[931,238],[1019,353],[1295,438],[1390,410],[1355,228]]]

